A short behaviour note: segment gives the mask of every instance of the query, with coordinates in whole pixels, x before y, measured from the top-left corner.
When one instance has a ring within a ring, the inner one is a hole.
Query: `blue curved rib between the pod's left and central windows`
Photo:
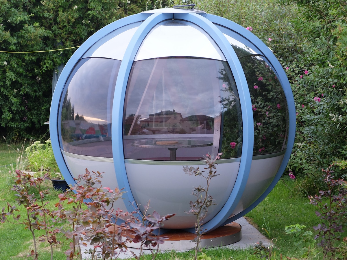
[[[142,41],[156,24],[160,23],[163,20],[173,19],[173,17],[173,14],[156,13],[152,14],[150,17],[144,20],[130,40],[118,72],[112,109],[112,153],[113,163],[115,165],[115,170],[117,171],[117,182],[119,187],[124,188],[124,191],[126,191],[126,193],[124,193],[123,195],[123,198],[125,199],[125,205],[129,212],[132,212],[134,210],[131,203],[134,202],[135,199],[130,190],[124,162],[123,108],[125,102],[125,91],[135,55]]]

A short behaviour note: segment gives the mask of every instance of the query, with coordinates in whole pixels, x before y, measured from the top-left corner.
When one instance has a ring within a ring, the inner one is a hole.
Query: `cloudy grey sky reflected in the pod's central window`
[[[126,116],[175,111],[214,117],[221,112],[223,61],[166,58],[135,62],[127,88]]]

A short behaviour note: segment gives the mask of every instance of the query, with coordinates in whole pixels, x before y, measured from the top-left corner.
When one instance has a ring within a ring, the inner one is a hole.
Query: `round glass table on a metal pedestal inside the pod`
[[[168,148],[170,151],[170,161],[176,161],[176,150],[178,148],[210,146],[213,145],[213,142],[199,139],[152,139],[135,141],[131,145],[142,148]]]

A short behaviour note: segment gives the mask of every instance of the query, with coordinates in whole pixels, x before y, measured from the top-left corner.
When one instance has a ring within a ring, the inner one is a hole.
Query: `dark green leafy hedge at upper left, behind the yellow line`
[[[0,0],[1,135],[45,133],[54,68],[105,25],[155,4],[160,7],[144,0]]]

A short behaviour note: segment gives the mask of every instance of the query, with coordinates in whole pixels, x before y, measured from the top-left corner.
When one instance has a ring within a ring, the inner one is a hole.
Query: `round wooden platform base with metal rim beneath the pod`
[[[159,246],[159,250],[190,250],[195,246],[192,241],[196,235],[180,229],[173,229],[162,236],[169,237],[164,244]],[[232,222],[201,236],[202,248],[213,248],[217,246],[230,245],[240,241],[242,238],[241,225]],[[135,243],[127,245],[130,248],[137,248]]]

